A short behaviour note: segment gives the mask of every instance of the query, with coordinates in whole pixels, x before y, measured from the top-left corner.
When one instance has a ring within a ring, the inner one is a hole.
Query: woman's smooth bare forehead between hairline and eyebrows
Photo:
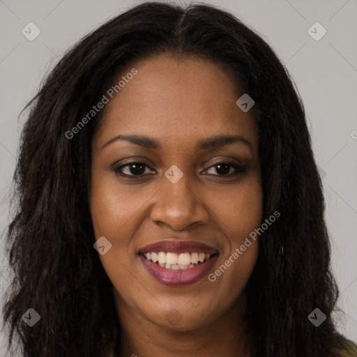
[[[222,66],[197,56],[160,54],[132,63],[116,82],[132,68],[137,74],[126,78],[105,107],[100,142],[121,132],[181,142],[215,133],[244,133],[251,140],[256,135],[252,112],[237,107],[242,93]]]

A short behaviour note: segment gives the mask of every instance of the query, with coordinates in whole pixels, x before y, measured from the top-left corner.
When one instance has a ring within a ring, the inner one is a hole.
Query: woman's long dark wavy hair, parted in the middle
[[[102,268],[89,213],[91,140],[102,112],[75,127],[117,76],[155,54],[200,56],[229,71],[255,100],[264,195],[261,236],[247,284],[252,356],[337,356],[345,339],[332,313],[338,289],[324,222],[321,179],[294,82],[271,47],[225,10],[148,2],[114,17],[76,43],[29,102],[14,175],[16,212],[6,235],[14,273],[3,307],[8,349],[25,356],[107,356],[119,351],[113,285]],[[25,108],[25,109],[26,109]],[[22,315],[32,307],[40,323]],[[307,316],[318,307],[326,321]]]

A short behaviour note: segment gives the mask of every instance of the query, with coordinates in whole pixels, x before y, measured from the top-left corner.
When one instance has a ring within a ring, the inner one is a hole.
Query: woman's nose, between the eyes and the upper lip
[[[188,175],[183,175],[176,182],[162,178],[162,188],[156,193],[155,204],[151,210],[151,220],[158,225],[168,225],[175,231],[186,229],[190,225],[208,222],[208,209],[204,197],[200,197],[192,187]]]

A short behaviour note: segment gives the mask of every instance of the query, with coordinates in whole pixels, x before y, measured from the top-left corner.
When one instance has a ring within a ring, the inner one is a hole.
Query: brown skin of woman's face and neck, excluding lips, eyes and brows
[[[160,54],[137,61],[137,75],[105,107],[93,137],[90,208],[96,239],[112,248],[99,255],[114,285],[123,328],[121,356],[249,356],[245,284],[257,260],[258,241],[215,282],[167,287],[146,271],[137,251],[145,245],[192,240],[218,249],[209,273],[225,263],[261,224],[258,134],[252,111],[236,105],[240,93],[224,68],[195,56]],[[120,79],[120,78],[119,78]],[[146,135],[161,149],[146,149],[116,135]],[[199,139],[241,135],[250,142],[199,149]],[[236,176],[214,164],[243,165]],[[128,162],[143,162],[142,176]],[[183,177],[172,183],[172,165]],[[172,238],[174,237],[174,238]],[[174,310],[175,309],[175,312]],[[169,315],[167,315],[169,314]],[[167,316],[177,314],[173,325]]]

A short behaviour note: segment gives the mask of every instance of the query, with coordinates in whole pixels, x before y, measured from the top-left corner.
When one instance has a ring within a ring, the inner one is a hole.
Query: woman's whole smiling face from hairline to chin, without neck
[[[162,54],[123,77],[93,137],[91,218],[112,245],[99,257],[121,319],[206,326],[241,301],[257,259],[255,122],[210,61]]]

